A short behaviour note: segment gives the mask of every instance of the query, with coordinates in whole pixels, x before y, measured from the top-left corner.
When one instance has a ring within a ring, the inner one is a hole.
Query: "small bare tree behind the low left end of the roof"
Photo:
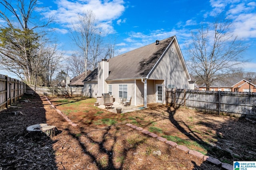
[[[82,72],[84,71],[83,63],[83,59],[75,54],[71,55],[71,57],[68,58],[68,69],[72,72],[74,77],[82,74]]]

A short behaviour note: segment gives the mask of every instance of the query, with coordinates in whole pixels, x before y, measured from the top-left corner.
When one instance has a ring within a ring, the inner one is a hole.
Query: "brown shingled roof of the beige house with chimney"
[[[168,45],[175,36],[159,41],[159,44],[152,43],[138,49],[134,49],[122,55],[108,59],[109,76],[106,80],[129,80],[136,78],[146,78],[156,62],[164,54]],[[85,81],[93,81],[98,78],[96,68]]]

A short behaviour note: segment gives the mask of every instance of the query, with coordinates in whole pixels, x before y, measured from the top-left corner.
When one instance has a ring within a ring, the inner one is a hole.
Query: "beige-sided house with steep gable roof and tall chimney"
[[[165,104],[166,88],[194,89],[176,36],[98,63],[85,78],[85,96],[132,96],[131,105]]]

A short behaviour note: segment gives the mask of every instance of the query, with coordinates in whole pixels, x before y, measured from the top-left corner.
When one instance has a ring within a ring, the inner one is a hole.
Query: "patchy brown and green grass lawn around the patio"
[[[193,169],[190,168],[193,166],[193,162],[184,163],[184,158],[188,155],[172,155],[176,153],[172,153],[173,150],[170,148],[167,149],[165,143],[148,138],[142,133],[122,125],[125,123],[142,127],[167,140],[176,142],[178,145],[184,145],[225,163],[232,164],[232,161],[236,160],[256,160],[254,149],[256,144],[246,139],[234,138],[241,133],[256,139],[256,133],[251,133],[255,132],[255,125],[251,125],[252,123],[245,119],[211,115],[182,108],[174,109],[163,105],[130,113],[114,114],[93,106],[96,102],[94,98],[59,97],[49,98],[49,100],[57,109],[78,124],[77,128],[71,129],[63,122],[59,122],[59,124],[55,122],[56,126],[64,131],[64,135],[70,136],[70,139],[65,140],[77,143],[78,148],[82,148],[83,151],[80,151],[80,154],[86,154],[86,158],[81,159],[96,162],[90,164],[90,167],[131,168],[133,166],[130,164],[134,161],[134,157],[138,157],[135,162],[138,164],[134,166],[142,169],[143,163],[147,164],[148,160],[152,162],[152,166],[164,161],[162,169],[167,167]],[[64,138],[64,136],[62,137]],[[61,144],[56,143],[57,148],[59,145]],[[241,148],[248,150],[248,154],[240,152]],[[102,149],[105,151],[102,152]],[[162,149],[163,154],[156,157],[153,152],[158,149]],[[175,151],[177,152],[177,150]],[[64,154],[60,150],[59,152]],[[179,163],[170,164],[169,156],[180,159]],[[202,166],[199,162],[195,164],[197,169]],[[204,169],[203,166],[202,169]]]

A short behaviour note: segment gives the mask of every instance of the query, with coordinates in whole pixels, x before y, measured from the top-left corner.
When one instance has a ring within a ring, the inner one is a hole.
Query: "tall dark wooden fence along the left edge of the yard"
[[[0,111],[23,96],[25,85],[24,82],[0,74]]]

